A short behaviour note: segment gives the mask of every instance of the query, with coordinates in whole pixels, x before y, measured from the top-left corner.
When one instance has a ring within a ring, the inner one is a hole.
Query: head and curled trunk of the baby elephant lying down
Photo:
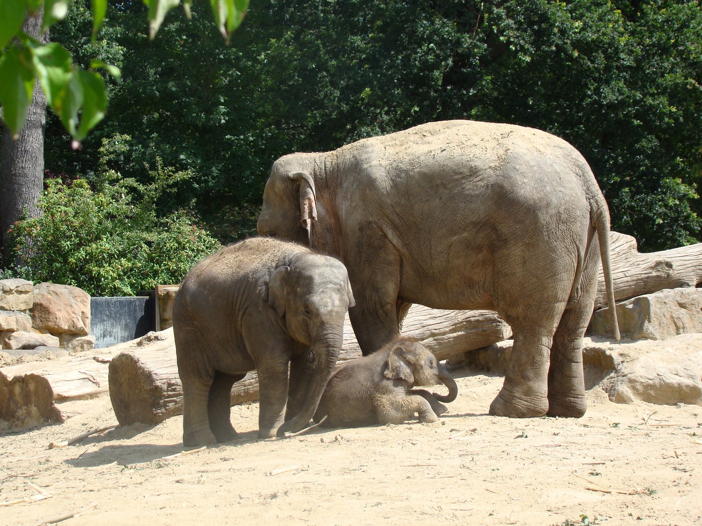
[[[449,388],[449,394],[432,393],[439,402],[453,402],[458,394],[456,381],[446,367],[425,346],[408,339],[392,346],[383,376],[406,382],[410,387],[444,384]]]

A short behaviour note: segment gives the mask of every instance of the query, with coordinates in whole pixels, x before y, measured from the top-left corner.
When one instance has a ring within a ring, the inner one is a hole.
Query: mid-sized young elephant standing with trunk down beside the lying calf
[[[173,305],[183,443],[236,436],[232,385],[251,370],[258,372],[259,438],[307,426],[353,304],[343,264],[293,243],[248,239],[199,262]]]

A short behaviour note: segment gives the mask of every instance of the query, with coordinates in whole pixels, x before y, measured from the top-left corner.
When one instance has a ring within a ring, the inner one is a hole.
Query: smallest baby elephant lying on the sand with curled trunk
[[[414,386],[442,383],[441,396]],[[419,422],[436,422],[453,402],[458,386],[446,368],[415,339],[399,338],[380,351],[345,363],[334,372],[319,401],[314,422],[324,427],[401,424],[419,414]]]

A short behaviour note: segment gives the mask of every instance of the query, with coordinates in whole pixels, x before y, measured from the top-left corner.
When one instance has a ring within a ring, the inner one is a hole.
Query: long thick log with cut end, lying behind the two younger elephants
[[[405,318],[403,334],[419,339],[443,360],[505,339],[511,330],[491,311],[437,311],[415,305]],[[141,348],[130,346],[112,358],[110,398],[121,425],[157,424],[183,412],[173,330],[164,330],[159,335],[166,339]],[[358,356],[360,348],[347,319],[338,364]],[[250,400],[258,400],[256,372],[250,372],[232,389],[232,405]]]

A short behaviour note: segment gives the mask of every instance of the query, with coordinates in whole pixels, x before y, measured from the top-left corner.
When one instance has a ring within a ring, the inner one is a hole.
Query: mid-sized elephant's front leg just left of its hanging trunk
[[[284,422],[288,398],[288,363],[258,369],[258,438],[273,438]]]

